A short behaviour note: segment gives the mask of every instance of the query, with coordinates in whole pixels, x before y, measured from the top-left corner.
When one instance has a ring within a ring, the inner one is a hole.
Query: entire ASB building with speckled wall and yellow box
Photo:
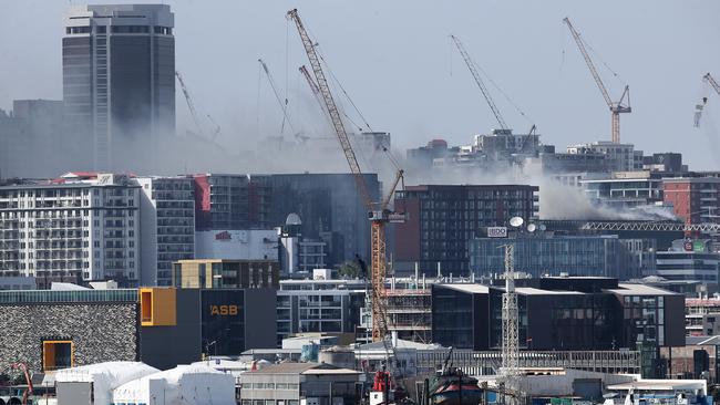
[[[0,366],[142,361],[168,368],[202,353],[272,347],[274,303],[271,289],[0,291]]]

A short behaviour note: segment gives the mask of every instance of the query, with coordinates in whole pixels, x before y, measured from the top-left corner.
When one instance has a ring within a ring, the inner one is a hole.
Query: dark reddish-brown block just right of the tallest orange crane
[[[538,191],[525,185],[422,185],[395,193],[395,211],[408,214],[395,226],[395,273],[469,273],[469,241],[482,227],[507,226],[512,217],[537,219]]]

